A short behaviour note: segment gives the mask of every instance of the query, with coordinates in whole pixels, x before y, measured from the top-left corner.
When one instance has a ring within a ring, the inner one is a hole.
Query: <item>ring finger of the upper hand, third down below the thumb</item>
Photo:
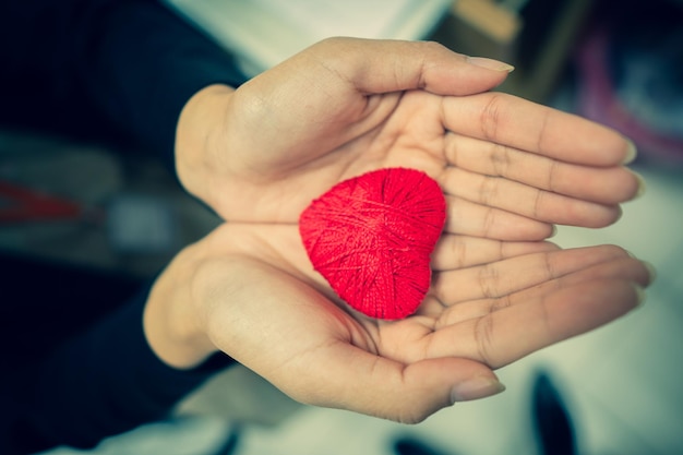
[[[463,169],[450,169],[442,180],[451,195],[539,221],[598,228],[621,216],[618,205],[586,202]]]

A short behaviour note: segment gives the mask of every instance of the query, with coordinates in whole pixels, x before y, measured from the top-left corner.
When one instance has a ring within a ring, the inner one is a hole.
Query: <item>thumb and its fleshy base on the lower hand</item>
[[[237,255],[218,265],[206,276],[209,338],[296,400],[415,423],[502,391],[477,361],[407,364],[375,354],[376,338],[348,314],[268,264]]]

